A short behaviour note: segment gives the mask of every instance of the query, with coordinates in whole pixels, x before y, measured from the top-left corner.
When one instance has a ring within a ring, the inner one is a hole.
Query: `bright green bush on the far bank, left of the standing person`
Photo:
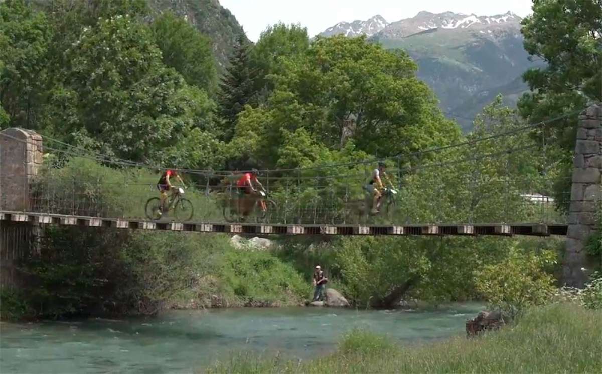
[[[219,274],[226,295],[245,306],[301,305],[310,292],[293,266],[265,251],[229,250]]]

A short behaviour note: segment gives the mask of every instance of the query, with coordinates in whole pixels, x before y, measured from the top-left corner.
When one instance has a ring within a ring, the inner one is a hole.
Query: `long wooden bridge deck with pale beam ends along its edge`
[[[257,235],[430,235],[430,236],[548,236],[566,235],[566,224],[411,224],[411,225],[324,225],[161,222],[134,218],[97,218],[29,212],[0,211],[0,221],[83,227],[114,227],[130,230],[187,231]]]

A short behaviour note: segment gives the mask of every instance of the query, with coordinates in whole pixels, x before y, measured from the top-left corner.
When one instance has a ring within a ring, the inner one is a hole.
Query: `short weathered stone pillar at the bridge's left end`
[[[0,132],[0,210],[31,208],[29,186],[42,165],[42,136],[11,127]]]

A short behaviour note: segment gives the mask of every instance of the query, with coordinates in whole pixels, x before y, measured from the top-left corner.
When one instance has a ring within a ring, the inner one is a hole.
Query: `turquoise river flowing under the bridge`
[[[0,323],[0,372],[191,373],[233,352],[311,359],[364,328],[402,344],[464,334],[480,304],[439,310],[264,308],[173,311],[148,319]]]

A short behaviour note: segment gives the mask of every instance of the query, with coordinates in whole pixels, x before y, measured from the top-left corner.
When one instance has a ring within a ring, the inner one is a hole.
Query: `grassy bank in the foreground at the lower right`
[[[602,312],[575,304],[535,308],[479,339],[399,346],[353,331],[338,352],[299,363],[240,354],[210,373],[595,373],[602,367]]]

